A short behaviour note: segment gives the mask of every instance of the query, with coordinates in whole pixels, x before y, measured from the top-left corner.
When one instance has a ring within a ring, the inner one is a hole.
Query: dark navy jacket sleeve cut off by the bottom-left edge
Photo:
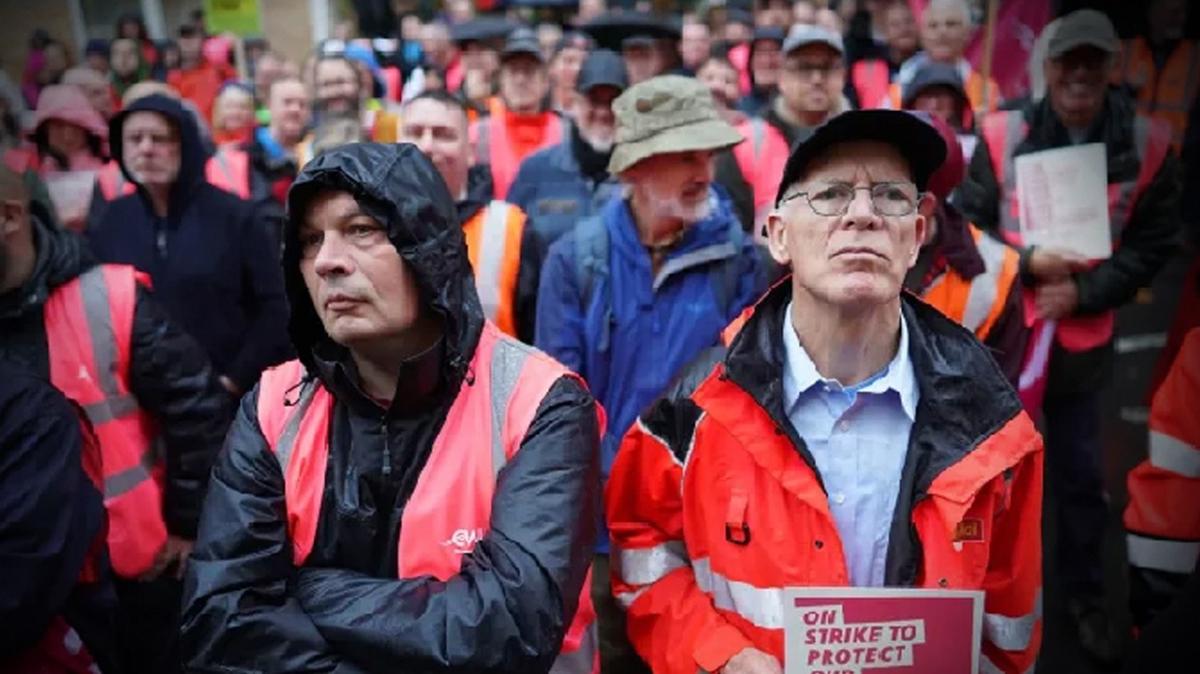
[[[104,522],[60,393],[5,368],[0,383],[0,669],[32,646],[76,588]]]

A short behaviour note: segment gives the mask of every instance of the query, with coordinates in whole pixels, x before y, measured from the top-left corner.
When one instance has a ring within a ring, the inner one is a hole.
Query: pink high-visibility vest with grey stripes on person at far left
[[[108,553],[124,578],[149,571],[167,543],[157,427],[128,383],[139,277],[127,265],[94,266],[55,288],[43,311],[50,381],[83,407],[100,439]]]

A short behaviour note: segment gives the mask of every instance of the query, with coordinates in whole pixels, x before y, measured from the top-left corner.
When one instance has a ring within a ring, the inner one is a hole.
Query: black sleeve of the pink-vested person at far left
[[[167,529],[194,538],[209,471],[229,427],[233,402],[217,383],[204,349],[172,325],[142,287],[133,312],[130,360],[130,387],[142,409],[158,422],[167,449]]]

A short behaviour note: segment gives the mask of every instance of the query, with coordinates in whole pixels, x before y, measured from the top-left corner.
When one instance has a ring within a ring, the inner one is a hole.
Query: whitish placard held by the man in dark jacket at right
[[[1026,246],[1056,248],[1088,259],[1112,254],[1104,144],[1021,155],[1014,164],[1018,217]]]

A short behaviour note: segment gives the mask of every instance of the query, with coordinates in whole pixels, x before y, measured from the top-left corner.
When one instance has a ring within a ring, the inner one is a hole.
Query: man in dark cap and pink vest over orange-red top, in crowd
[[[470,127],[475,163],[492,173],[492,194],[503,199],[526,157],[557,145],[566,136],[566,122],[546,109],[550,74],[538,36],[528,28],[509,34],[500,52],[500,96],[492,100],[486,118]]]

